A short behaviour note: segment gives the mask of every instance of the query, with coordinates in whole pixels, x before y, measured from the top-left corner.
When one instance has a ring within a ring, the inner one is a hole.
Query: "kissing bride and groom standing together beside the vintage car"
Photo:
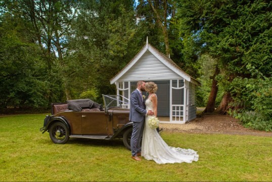
[[[133,122],[130,140],[132,159],[141,161],[141,157],[144,157],[158,164],[198,161],[198,154],[192,149],[169,147],[157,129],[148,122],[151,118],[157,118],[157,89],[154,82],[138,81],[137,89],[130,95],[129,121]],[[146,100],[142,96],[145,91],[149,93]]]

